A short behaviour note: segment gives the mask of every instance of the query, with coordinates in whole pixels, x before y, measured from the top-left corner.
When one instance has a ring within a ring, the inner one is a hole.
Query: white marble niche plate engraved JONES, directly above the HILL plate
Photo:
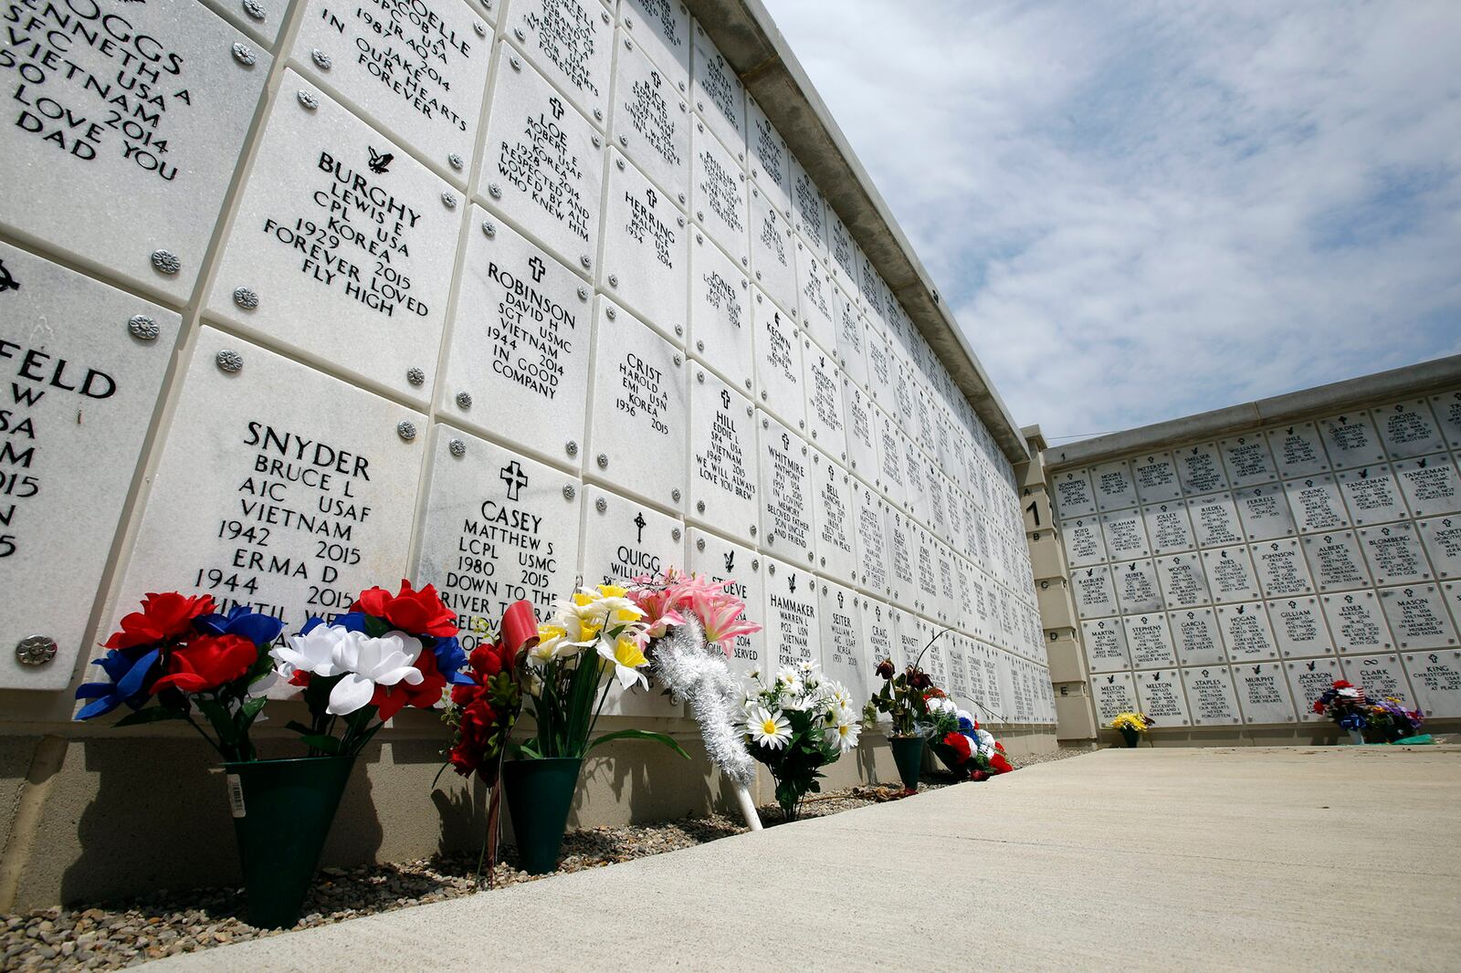
[[[703,232],[690,244],[690,336],[695,358],[738,392],[754,394],[751,283]]]

